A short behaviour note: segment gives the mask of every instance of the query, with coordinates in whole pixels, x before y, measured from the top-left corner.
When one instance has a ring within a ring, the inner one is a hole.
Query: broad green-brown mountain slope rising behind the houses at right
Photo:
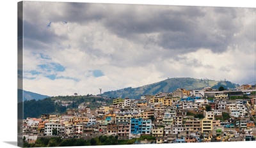
[[[154,95],[159,92],[172,93],[178,88],[183,88],[186,90],[192,89],[203,89],[204,87],[212,87],[218,89],[220,86],[227,88],[235,88],[238,84],[234,84],[229,81],[216,81],[208,79],[196,79],[196,78],[168,78],[161,82],[156,82],[154,84],[148,84],[141,87],[127,87],[124,89],[119,89],[117,91],[104,92],[102,96],[106,97],[120,97],[120,98],[132,98],[139,99],[140,96],[144,94]]]

